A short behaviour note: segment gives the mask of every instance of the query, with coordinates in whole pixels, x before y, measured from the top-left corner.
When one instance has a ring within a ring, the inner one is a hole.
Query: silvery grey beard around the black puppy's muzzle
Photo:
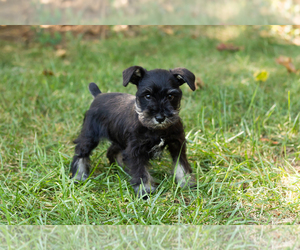
[[[162,123],[159,123],[155,117],[149,116],[146,112],[143,112],[138,103],[135,103],[135,111],[138,114],[138,119],[142,125],[151,129],[166,129],[179,120],[178,110],[174,110],[172,116],[166,117]]]

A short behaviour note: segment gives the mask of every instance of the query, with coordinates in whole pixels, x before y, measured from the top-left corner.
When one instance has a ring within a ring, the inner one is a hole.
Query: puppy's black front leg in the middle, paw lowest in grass
[[[128,150],[123,152],[123,156],[126,168],[132,177],[130,183],[135,193],[139,197],[147,198],[147,195],[153,193],[156,189],[152,185],[153,179],[147,170],[149,158],[146,155],[135,154],[132,151],[129,153]]]

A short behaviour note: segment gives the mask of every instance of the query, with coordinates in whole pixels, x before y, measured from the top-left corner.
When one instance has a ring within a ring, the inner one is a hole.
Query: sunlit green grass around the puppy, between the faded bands
[[[136,37],[67,37],[65,58],[52,46],[0,41],[0,223],[9,225],[239,225],[299,223],[300,48],[261,38],[253,27],[177,27],[166,35],[142,28]],[[196,34],[196,38],[195,38]],[[218,37],[244,50],[219,52]],[[230,41],[230,40],[229,40]],[[186,67],[204,88],[182,86],[181,117],[197,188],[173,182],[168,154],[154,160],[158,191],[135,197],[128,176],[93,153],[91,178],[74,185],[72,140],[92,101],[88,83],[102,92],[135,93],[122,71]],[[253,74],[265,69],[266,82]],[[54,75],[44,75],[43,71]]]

